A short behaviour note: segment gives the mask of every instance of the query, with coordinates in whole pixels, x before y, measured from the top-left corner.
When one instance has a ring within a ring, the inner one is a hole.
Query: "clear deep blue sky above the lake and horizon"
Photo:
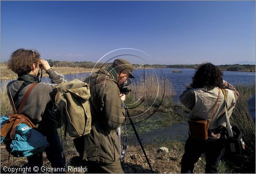
[[[66,61],[119,48],[134,50],[111,56],[150,64],[255,61],[255,1],[1,1],[1,61],[18,48]]]

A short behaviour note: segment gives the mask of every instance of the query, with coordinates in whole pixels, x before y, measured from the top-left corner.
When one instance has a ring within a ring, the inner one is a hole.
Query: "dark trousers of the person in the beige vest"
[[[205,173],[217,173],[219,161],[223,158],[225,150],[224,141],[202,141],[189,137],[185,144],[185,153],[181,159],[181,173],[193,173],[194,165],[205,152]]]

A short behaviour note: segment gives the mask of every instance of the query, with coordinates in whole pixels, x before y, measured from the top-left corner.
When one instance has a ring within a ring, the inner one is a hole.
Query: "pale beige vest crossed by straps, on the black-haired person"
[[[227,93],[228,117],[230,117],[234,106],[236,105],[236,97],[234,96],[234,92],[232,90],[225,90]],[[218,87],[215,87],[212,90],[207,90],[206,88],[194,89],[196,104],[190,111],[189,118],[210,119],[212,110],[214,109],[214,105],[218,97],[218,91]],[[220,98],[214,115],[210,120],[209,130],[216,129],[219,126],[226,126],[226,115],[224,108],[224,95],[222,91],[220,91]]]

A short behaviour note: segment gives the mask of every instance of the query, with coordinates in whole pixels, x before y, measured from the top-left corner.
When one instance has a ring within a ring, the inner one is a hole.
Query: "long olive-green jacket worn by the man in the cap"
[[[98,83],[102,78],[107,80]],[[110,73],[102,69],[84,82],[91,85],[92,129],[90,134],[74,139],[76,150],[82,159],[112,163],[120,157],[116,129],[124,121],[125,112],[119,97],[117,74],[114,70]]]

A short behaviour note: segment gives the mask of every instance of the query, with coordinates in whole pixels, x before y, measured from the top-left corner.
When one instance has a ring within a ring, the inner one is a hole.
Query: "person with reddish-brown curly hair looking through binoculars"
[[[39,83],[40,67],[46,71],[52,84]],[[20,114],[26,115],[38,130],[43,134],[49,146],[45,152],[51,162],[52,167],[63,168],[65,171],[65,157],[63,156],[62,146],[58,137],[57,126],[60,115],[54,112],[54,93],[53,88],[56,84],[65,82],[63,75],[55,72],[46,60],[40,59],[40,54],[32,49],[17,49],[11,54],[8,61],[8,68],[18,76],[17,80],[11,81],[7,85],[7,94],[10,101],[14,102],[14,107],[19,108],[28,88],[36,83],[30,92],[26,104]],[[27,157],[28,167],[34,173],[33,167],[42,166],[42,152],[38,152]]]

